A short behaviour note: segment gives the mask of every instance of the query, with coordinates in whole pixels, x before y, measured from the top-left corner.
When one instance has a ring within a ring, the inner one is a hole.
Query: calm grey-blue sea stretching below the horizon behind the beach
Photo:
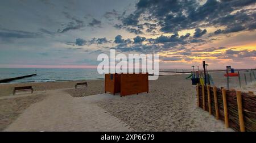
[[[184,69],[160,69],[160,71],[182,71]],[[36,74],[32,77],[17,79],[9,83],[23,82],[54,82],[54,81],[77,81],[86,79],[104,79],[104,74],[98,74],[97,69],[8,69],[0,68],[0,79],[20,77],[23,75]],[[179,73],[159,73],[172,75]]]

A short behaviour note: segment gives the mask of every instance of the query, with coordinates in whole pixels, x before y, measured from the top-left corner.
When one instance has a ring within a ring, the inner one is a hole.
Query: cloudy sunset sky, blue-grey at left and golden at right
[[[165,69],[256,68],[256,0],[0,3],[0,68],[97,68],[110,49]]]

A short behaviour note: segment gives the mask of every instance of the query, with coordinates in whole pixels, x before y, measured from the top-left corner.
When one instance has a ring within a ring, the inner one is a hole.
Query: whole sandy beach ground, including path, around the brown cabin
[[[223,121],[214,119],[208,112],[196,107],[196,87],[191,85],[190,79],[185,79],[187,76],[160,76],[158,80],[149,82],[148,94],[122,98],[118,94],[105,94],[104,80],[86,81],[86,89],[74,88],[75,83],[81,81],[2,84],[0,129],[233,131],[225,128]],[[212,76],[216,86],[225,87],[223,73],[212,73]],[[230,79],[230,82],[230,88],[237,87],[237,79]],[[35,93],[11,95],[13,87],[25,85],[33,86]],[[254,83],[248,86],[250,90],[255,90]],[[244,90],[248,89],[244,87]]]

